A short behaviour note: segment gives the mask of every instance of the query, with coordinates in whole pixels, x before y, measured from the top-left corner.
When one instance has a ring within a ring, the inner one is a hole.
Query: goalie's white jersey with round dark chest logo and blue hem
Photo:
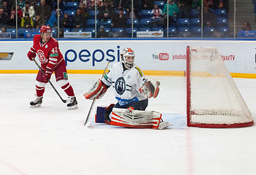
[[[147,99],[139,92],[139,88],[144,85],[147,78],[135,64],[131,69],[124,71],[122,62],[115,63],[101,81],[115,88],[115,98],[120,106]]]

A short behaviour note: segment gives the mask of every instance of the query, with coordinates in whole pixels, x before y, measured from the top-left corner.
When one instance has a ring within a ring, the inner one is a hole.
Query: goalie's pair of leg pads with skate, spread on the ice
[[[98,106],[95,123],[106,123],[109,125],[117,125],[126,128],[153,128],[165,129],[170,126],[168,122],[161,121],[162,114],[154,111],[140,111],[131,108],[121,109],[113,108],[114,104],[108,107]],[[108,109],[112,109],[111,120],[106,120]],[[105,115],[105,116],[104,116]]]

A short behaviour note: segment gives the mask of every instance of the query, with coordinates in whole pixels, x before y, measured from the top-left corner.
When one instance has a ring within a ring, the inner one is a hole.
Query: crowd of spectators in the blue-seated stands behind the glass
[[[70,1],[77,3],[74,9],[67,9]],[[216,9],[225,9],[228,13],[228,0],[167,1],[159,5],[157,3],[159,0],[133,0],[132,10],[129,0],[0,0],[0,25],[5,29],[15,28],[17,9],[18,28],[41,28],[43,25],[58,28],[59,19],[62,36],[63,29],[76,31],[89,28],[88,20],[94,19],[93,12],[96,9],[97,35],[106,37],[108,36],[106,29],[131,28],[128,19],[133,18],[138,21],[144,19],[143,10],[150,10],[150,15],[147,17],[150,19],[150,28],[166,28],[167,22],[174,23],[177,28],[177,20],[180,18],[198,18],[201,21],[201,1],[203,1],[203,27],[217,27],[217,16],[214,12]],[[70,13],[71,11],[73,14]],[[193,16],[192,12],[197,12],[197,15]],[[110,21],[109,26],[101,25],[107,21]],[[134,25],[133,28],[139,30],[139,26]]]

